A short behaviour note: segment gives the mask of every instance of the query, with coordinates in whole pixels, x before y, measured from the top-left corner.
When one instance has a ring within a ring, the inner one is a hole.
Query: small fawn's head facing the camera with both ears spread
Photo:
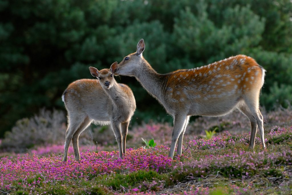
[[[97,70],[94,67],[89,67],[91,75],[98,78],[99,83],[103,89],[110,89],[113,86],[115,82],[114,73],[117,72],[117,69],[117,62],[114,62],[110,69]]]

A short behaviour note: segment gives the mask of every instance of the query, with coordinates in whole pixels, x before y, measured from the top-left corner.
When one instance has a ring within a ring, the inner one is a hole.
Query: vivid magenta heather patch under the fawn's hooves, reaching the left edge
[[[157,151],[164,147],[157,147]],[[0,162],[0,188],[8,189],[20,181],[19,185],[36,186],[38,182],[53,183],[56,181],[88,178],[90,175],[103,175],[116,172],[133,172],[137,170],[165,170],[171,166],[171,159],[166,155],[156,154],[146,149],[129,149],[124,158],[118,158],[117,151],[82,153],[81,161],[76,162],[73,156],[68,162],[62,162],[61,156],[39,158],[36,155],[5,157]],[[28,179],[40,177],[30,183]]]

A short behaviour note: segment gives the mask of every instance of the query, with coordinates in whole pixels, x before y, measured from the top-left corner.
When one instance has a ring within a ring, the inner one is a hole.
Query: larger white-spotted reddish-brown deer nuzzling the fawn
[[[221,116],[235,108],[251,122],[249,146],[254,147],[257,127],[265,147],[263,116],[259,110],[259,95],[265,70],[248,56],[238,55],[212,64],[188,70],[158,74],[143,58],[144,40],[137,51],[124,57],[117,74],[134,76],[174,118],[169,156],[182,153],[183,135],[192,115]]]

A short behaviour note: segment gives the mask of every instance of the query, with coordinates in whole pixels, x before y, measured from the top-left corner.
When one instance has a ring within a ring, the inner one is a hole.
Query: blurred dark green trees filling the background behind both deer
[[[70,82],[120,62],[141,38],[158,73],[251,56],[267,70],[261,106],[292,102],[290,0],[0,0],[0,138],[40,108],[65,111]],[[172,120],[134,78],[117,80],[134,92],[132,123]]]

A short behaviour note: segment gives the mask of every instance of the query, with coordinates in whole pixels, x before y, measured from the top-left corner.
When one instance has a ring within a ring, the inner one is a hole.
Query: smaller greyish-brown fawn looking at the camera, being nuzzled
[[[71,140],[75,160],[80,160],[78,137],[93,121],[101,125],[111,124],[119,146],[119,157],[126,154],[126,136],[136,102],[131,89],[114,80],[117,65],[115,62],[110,69],[100,71],[89,67],[91,74],[98,80],[74,81],[63,93],[62,100],[68,112],[63,161],[67,161]]]

